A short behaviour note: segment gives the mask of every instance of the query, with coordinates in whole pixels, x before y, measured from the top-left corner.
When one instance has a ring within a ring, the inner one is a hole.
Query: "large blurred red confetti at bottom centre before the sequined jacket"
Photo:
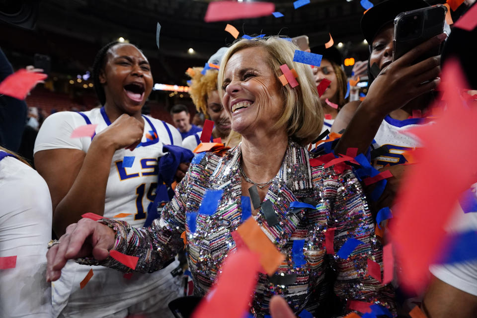
[[[229,254],[216,284],[199,304],[193,318],[243,318],[251,301],[260,256],[246,249]],[[240,275],[237,275],[240,273]]]

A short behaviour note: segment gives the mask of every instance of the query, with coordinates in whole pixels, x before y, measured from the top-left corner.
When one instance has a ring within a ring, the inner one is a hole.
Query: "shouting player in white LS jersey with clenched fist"
[[[57,236],[86,212],[142,226],[155,199],[162,147],[181,145],[174,127],[141,114],[153,78],[138,48],[118,42],[106,45],[96,56],[93,77],[103,106],[49,116],[35,142],[35,165],[50,188]],[[86,124],[97,125],[95,135],[70,137]],[[167,304],[179,296],[179,282],[170,272],[177,265],[171,260],[157,273],[123,277],[115,270],[70,262],[66,275],[52,284],[53,315],[172,317]],[[80,289],[90,268],[93,277]]]

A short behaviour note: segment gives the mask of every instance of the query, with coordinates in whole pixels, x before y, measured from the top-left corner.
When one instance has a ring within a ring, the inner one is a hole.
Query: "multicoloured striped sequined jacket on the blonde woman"
[[[177,185],[175,197],[161,210],[161,218],[151,227],[134,229],[115,221],[122,227],[119,232],[127,233],[127,240],[118,239],[114,248],[140,257],[136,271],[152,272],[160,269],[182,248],[180,236],[186,231],[186,250],[195,294],[204,295],[214,282],[224,257],[236,249],[231,233],[243,221],[240,158],[240,145],[222,157],[213,153],[197,155]],[[273,202],[279,223],[269,226],[261,209],[254,217],[286,258],[272,277],[259,274],[251,312],[257,317],[268,315],[269,299],[279,294],[287,299],[296,313],[307,309],[316,312],[317,317],[325,317],[321,308],[329,305],[324,302],[329,301],[326,296],[333,290],[326,286],[331,281],[335,295],[341,300],[333,316],[345,316],[351,312],[346,310],[348,300],[383,305],[395,313],[392,287],[383,286],[368,273],[368,259],[382,265],[382,246],[375,236],[360,182],[351,170],[337,174],[332,167],[311,167],[309,159],[305,148],[289,143],[280,171],[265,197]],[[186,225],[186,214],[199,210],[207,189],[223,189],[224,195],[215,214],[198,215],[196,231],[191,234]],[[305,198],[317,201],[318,209],[296,214],[289,212],[291,202]],[[346,259],[327,253],[331,250],[325,246],[325,233],[331,228],[336,228],[334,251],[338,251],[349,238],[359,239],[363,244]],[[307,263],[304,266],[294,266],[291,249],[295,239],[306,241],[304,255]],[[127,271],[124,265],[111,258],[103,265]]]

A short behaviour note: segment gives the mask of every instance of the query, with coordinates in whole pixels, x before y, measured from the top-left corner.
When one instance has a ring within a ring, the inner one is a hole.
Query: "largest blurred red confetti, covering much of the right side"
[[[465,106],[459,95],[459,88],[467,87],[459,62],[448,61],[442,78],[448,79],[447,111],[433,125],[412,130],[423,148],[415,153],[418,163],[410,165],[403,178],[390,231],[401,260],[402,286],[412,292],[425,287],[428,266],[442,253],[444,226],[455,202],[476,182],[477,147],[469,145],[477,135],[477,109]],[[459,131],[459,138],[449,131]]]

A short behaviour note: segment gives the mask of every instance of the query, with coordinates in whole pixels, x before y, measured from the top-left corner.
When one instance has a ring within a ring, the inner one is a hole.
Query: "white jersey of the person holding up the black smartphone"
[[[405,163],[406,159],[402,156],[402,153],[420,146],[418,139],[411,134],[407,134],[406,131],[423,125],[420,123],[421,121],[420,118],[397,120],[389,115],[386,116],[379,126],[371,147],[372,149],[378,149],[386,145],[388,153],[375,158],[372,162],[373,166],[379,169],[387,164]]]

